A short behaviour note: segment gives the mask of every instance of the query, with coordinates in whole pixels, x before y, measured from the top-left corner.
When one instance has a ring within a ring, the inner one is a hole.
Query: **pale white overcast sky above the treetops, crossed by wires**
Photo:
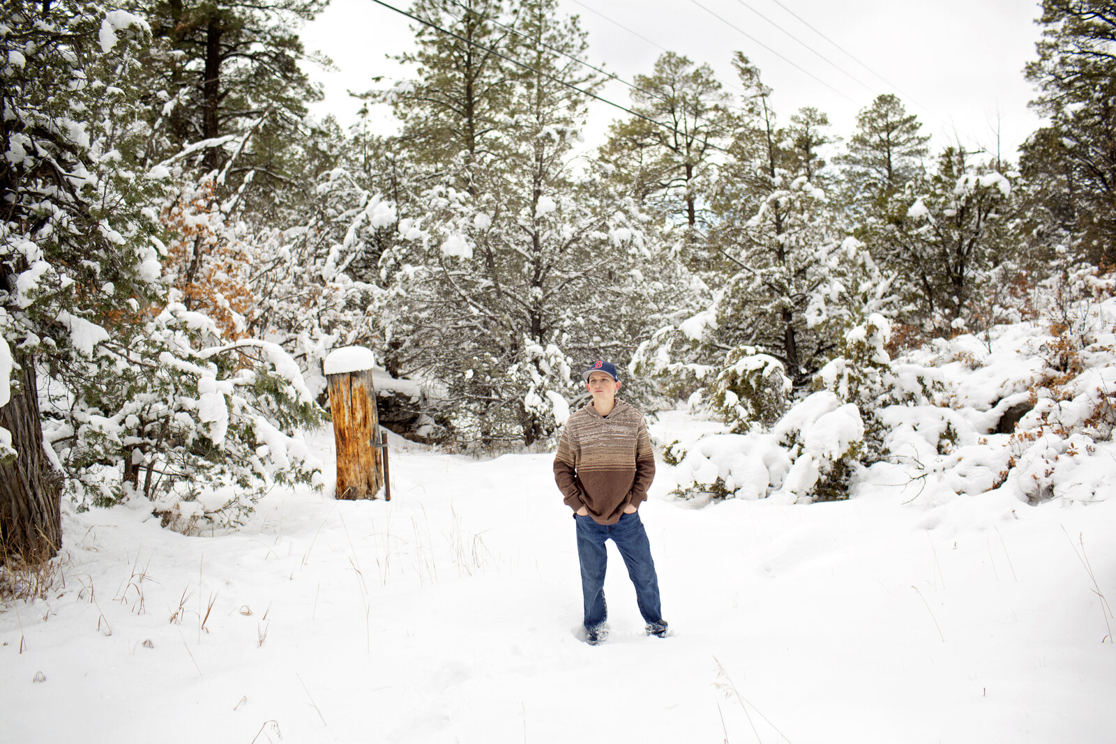
[[[406,0],[386,1],[408,9]],[[834,134],[843,137],[854,129],[857,112],[881,93],[898,95],[937,147],[960,136],[966,147],[994,152],[999,128],[1001,152],[1013,157],[1016,146],[1040,125],[1027,107],[1035,91],[1022,75],[1040,35],[1033,22],[1039,8],[1032,0],[560,0],[560,8],[581,17],[589,32],[588,61],[625,80],[650,74],[662,47],[710,64],[734,90],[730,59],[741,50],[775,89],[782,122],[800,106],[815,106],[829,115]],[[408,70],[388,56],[412,48],[413,22],[372,0],[333,0],[302,30],[307,47],[324,51],[338,67],[311,73],[327,96],[314,113],[333,113],[343,125],[350,124],[358,106],[347,89],[374,87],[375,76],[384,76],[385,83],[407,77]],[[629,104],[628,88],[617,81],[602,96]],[[607,124],[619,116],[623,112],[595,103],[585,133],[588,144],[598,144]],[[392,131],[386,115],[379,127]]]

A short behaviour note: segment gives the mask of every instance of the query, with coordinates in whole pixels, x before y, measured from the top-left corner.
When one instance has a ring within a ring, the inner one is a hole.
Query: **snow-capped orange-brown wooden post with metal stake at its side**
[[[387,437],[381,439],[372,351],[349,346],[329,352],[325,361],[329,409],[337,446],[337,497],[375,499],[387,470]],[[391,500],[391,492],[385,491]]]

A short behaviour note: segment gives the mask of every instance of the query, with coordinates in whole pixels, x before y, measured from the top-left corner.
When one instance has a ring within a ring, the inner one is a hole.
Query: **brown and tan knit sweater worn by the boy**
[[[624,506],[647,499],[655,454],[643,414],[616,398],[607,416],[593,404],[566,422],[555,455],[555,482],[574,511],[585,506],[599,524],[616,524]]]

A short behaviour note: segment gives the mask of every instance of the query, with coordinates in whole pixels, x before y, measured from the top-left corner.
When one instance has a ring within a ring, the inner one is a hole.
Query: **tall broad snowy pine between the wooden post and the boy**
[[[385,254],[385,332],[405,339],[398,352],[439,388],[446,436],[466,446],[552,436],[576,390],[570,367],[586,361],[568,349],[624,356],[637,342],[617,299],[639,283],[633,271],[645,221],[599,173],[576,167],[573,148],[586,102],[577,88],[596,85],[571,59],[585,54],[585,35],[576,18],[559,19],[550,0],[522,3],[514,22],[510,51],[522,67],[491,114],[487,144],[472,155],[458,147],[465,161],[454,154],[435,164],[432,175],[444,177],[414,210],[401,211],[402,242]],[[431,52],[423,57],[430,79],[450,75],[436,67],[454,69],[463,51],[440,45],[420,38]],[[396,102],[416,107],[406,115],[415,122],[433,105],[410,95]],[[469,131],[468,119],[455,120],[443,131]]]

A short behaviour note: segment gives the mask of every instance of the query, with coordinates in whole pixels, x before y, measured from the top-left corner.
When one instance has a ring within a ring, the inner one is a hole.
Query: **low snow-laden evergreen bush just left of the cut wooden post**
[[[279,346],[221,344],[209,317],[171,303],[96,327],[47,386],[45,426],[81,508],[151,502],[183,531],[231,525],[275,482],[321,484],[300,431],[324,419]]]

